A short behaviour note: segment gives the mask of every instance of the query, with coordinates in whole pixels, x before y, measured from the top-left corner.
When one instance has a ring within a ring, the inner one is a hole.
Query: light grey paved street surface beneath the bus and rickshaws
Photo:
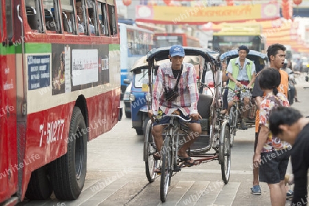
[[[309,83],[296,78],[298,98],[293,107],[309,115]],[[136,135],[125,116],[110,132],[88,144],[84,189],[76,201],[24,201],[19,205],[271,205],[268,186],[262,195],[251,194],[255,128],[238,130],[231,148],[231,177],[224,185],[218,161],[183,168],[172,176],[166,203],[160,201],[160,178],[148,183],[143,161],[143,136]],[[290,201],[286,202],[290,205]]]

